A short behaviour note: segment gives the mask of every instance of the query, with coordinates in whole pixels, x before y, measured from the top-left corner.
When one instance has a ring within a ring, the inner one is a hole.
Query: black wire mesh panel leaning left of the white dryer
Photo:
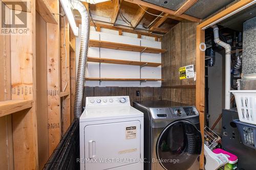
[[[77,158],[79,158],[79,119],[74,119],[44,169],[79,169]]]

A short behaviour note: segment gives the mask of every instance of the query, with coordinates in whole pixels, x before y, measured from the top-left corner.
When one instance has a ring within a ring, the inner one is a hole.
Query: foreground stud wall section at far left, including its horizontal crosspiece
[[[28,10],[21,13],[27,16],[27,35],[0,36],[1,169],[38,168],[35,1],[30,1]]]

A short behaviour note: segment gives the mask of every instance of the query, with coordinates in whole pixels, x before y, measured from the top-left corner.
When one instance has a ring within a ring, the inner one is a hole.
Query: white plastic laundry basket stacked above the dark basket
[[[231,90],[240,122],[256,125],[256,90]]]

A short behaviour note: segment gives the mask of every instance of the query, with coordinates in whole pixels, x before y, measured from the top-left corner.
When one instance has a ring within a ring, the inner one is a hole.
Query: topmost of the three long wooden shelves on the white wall
[[[109,48],[114,50],[131,51],[131,52],[154,53],[154,54],[166,52],[166,50],[159,49],[159,48],[108,42],[108,41],[99,41],[99,40],[92,40],[92,39],[90,40],[89,46]]]

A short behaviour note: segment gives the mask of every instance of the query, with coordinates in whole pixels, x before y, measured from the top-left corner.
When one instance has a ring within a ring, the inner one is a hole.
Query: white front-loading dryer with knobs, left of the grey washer
[[[80,169],[143,169],[143,113],[129,96],[87,97],[79,122]]]

